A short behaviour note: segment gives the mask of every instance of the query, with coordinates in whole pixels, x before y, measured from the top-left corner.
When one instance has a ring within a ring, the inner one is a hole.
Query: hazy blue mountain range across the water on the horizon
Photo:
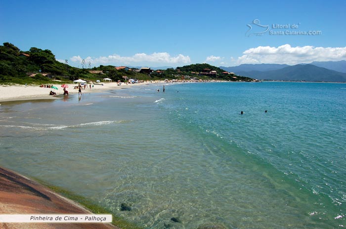
[[[227,72],[257,79],[287,81],[346,82],[346,61],[312,62],[289,66],[285,64],[242,64],[220,67]]]

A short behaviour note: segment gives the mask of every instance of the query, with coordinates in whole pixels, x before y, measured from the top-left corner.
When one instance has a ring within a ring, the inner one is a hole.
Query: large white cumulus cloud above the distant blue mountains
[[[311,63],[313,61],[339,61],[346,59],[346,47],[278,47],[258,46],[243,52],[237,64],[288,64]]]

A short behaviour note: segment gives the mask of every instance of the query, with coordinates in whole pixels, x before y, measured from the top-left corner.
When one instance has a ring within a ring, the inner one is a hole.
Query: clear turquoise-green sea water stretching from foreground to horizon
[[[162,86],[2,102],[0,165],[143,228],[346,227],[346,84]]]

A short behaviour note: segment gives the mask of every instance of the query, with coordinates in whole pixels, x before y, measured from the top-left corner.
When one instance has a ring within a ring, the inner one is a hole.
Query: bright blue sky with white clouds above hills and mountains
[[[1,0],[0,43],[76,67],[338,61],[345,11],[345,0]]]

